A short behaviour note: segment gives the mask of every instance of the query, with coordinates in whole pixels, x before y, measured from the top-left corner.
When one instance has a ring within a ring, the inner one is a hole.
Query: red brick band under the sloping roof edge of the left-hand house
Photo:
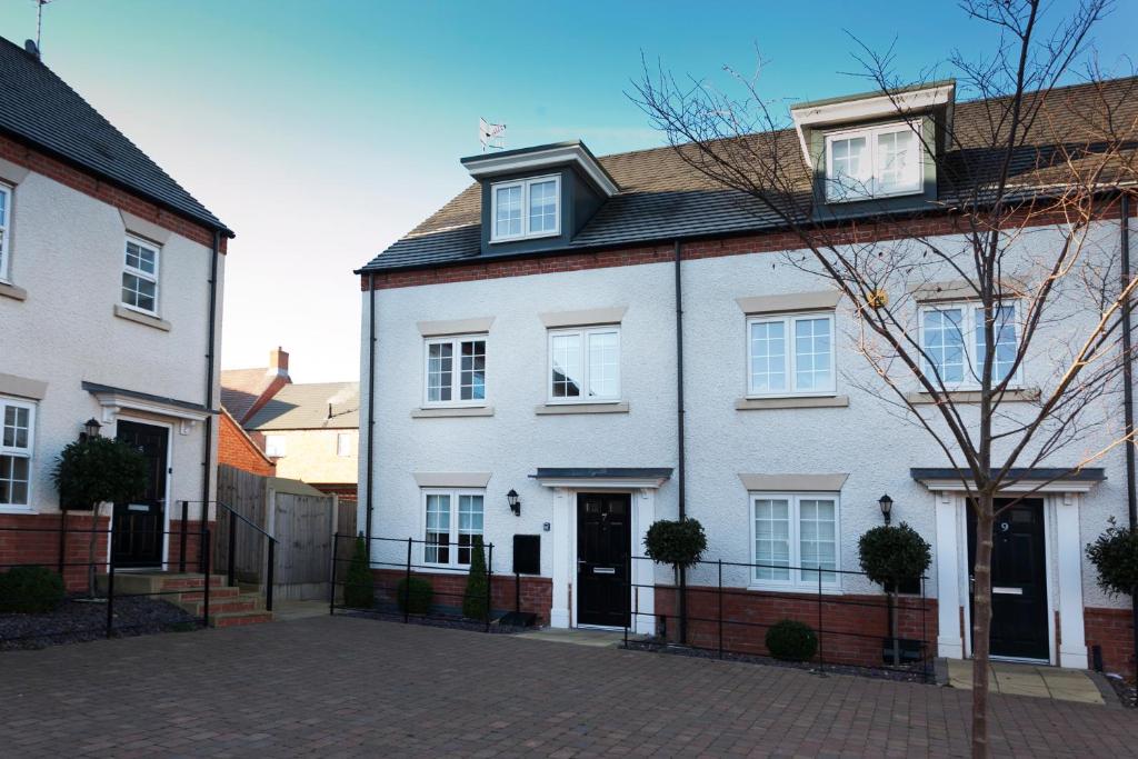
[[[52,158],[46,152],[40,152],[35,148],[31,148],[8,137],[0,135],[0,157],[31,168],[38,174],[43,174],[60,184],[66,184],[73,190],[79,190],[115,208],[158,224],[195,242],[204,246],[213,245],[213,230],[209,228],[166,211],[155,203],[123,190],[116,184],[100,180],[71,164],[58,158]],[[223,236],[221,238],[221,251],[225,253],[225,249],[226,238]]]

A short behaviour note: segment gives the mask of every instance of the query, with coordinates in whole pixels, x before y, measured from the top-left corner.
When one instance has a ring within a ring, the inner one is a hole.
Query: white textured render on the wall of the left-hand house
[[[0,374],[47,383],[35,416],[28,511],[52,513],[58,511],[58,495],[50,470],[59,451],[92,416],[104,422],[102,435],[115,435],[114,412],[82,389],[83,381],[206,403],[212,251],[168,234],[160,251],[158,296],[158,316],[170,325],[166,331],[115,315],[126,236],[117,208],[31,172],[15,189],[13,212],[9,281],[27,297],[0,297]],[[216,356],[224,264],[220,256]],[[213,385],[216,405],[216,374]],[[172,424],[170,500],[200,501],[205,424],[162,411],[123,410],[121,415]],[[217,449],[217,424],[213,428],[211,469]],[[167,513],[172,510],[167,506]],[[197,514],[193,504],[191,519]]]

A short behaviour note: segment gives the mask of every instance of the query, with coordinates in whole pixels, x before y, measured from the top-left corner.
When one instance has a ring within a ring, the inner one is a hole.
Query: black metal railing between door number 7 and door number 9
[[[646,556],[633,556],[627,568],[617,569],[629,570],[626,645],[679,645],[720,658],[766,657],[766,630],[791,619],[814,629],[818,645],[809,663],[822,673],[827,666],[844,666],[904,670],[924,682],[932,677],[925,577],[913,579],[916,593],[898,594],[893,603],[865,572],[847,569],[703,560],[687,569],[683,591],[676,584],[658,581],[657,572],[668,568]],[[729,576],[726,583],[725,571]],[[760,574],[768,572],[785,576],[786,586],[764,585]],[[637,576],[652,579],[630,579]],[[649,589],[651,609],[642,605]],[[681,593],[684,604],[679,603]],[[683,620],[681,609],[686,609]],[[645,628],[652,632],[637,638],[636,630]]]

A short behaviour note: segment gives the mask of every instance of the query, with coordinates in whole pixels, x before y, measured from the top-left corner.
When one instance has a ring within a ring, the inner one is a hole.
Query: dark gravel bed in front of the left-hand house
[[[197,629],[201,620],[172,603],[145,596],[115,599],[115,636]],[[46,614],[0,613],[0,651],[42,649],[107,636],[107,604],[66,599]]]

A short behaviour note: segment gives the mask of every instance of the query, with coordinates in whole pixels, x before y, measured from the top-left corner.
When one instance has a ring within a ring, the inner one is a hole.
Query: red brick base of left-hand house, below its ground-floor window
[[[94,560],[107,556],[108,517],[100,517],[96,534]],[[64,585],[69,592],[84,591],[88,586],[90,512],[67,514],[66,554]],[[22,528],[19,531],[10,528]],[[28,530],[28,531],[24,531]],[[33,531],[35,530],[35,531]],[[43,530],[43,531],[39,531]],[[51,570],[59,567],[59,514],[0,514],[0,571],[11,564],[42,564]],[[101,566],[99,567],[101,569]]]

